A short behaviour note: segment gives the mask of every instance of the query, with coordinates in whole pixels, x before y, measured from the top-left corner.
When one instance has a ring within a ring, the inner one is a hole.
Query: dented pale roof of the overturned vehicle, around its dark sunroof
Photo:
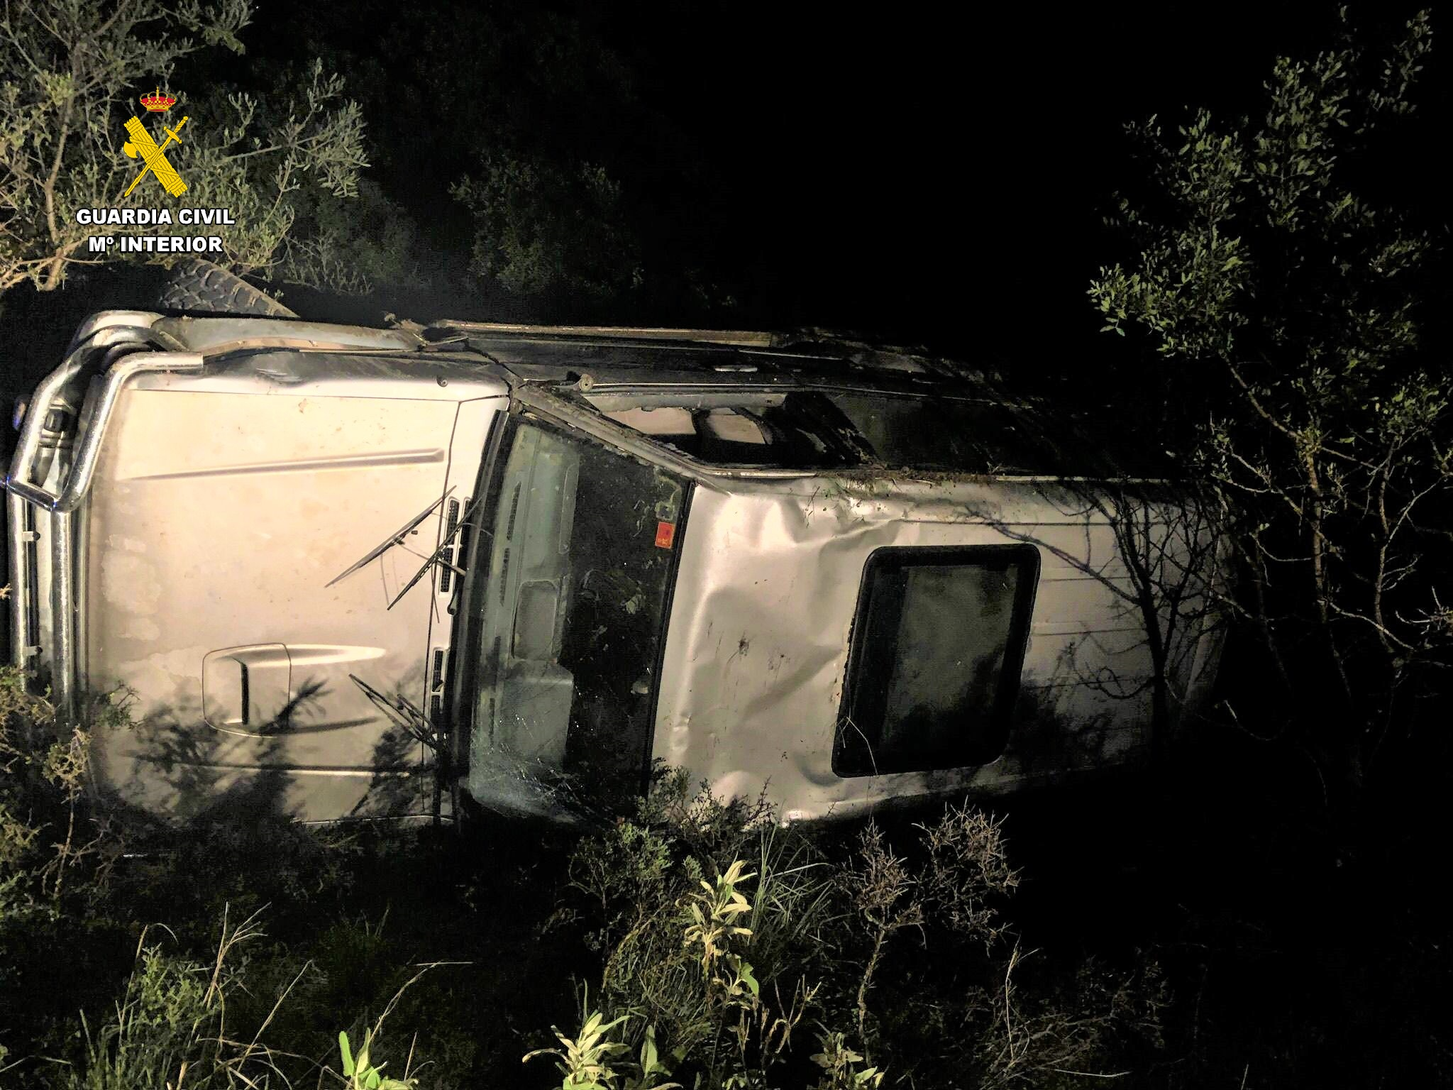
[[[831,738],[869,557],[1026,541],[1042,546],[1040,574],[1003,756],[962,770],[835,775]],[[1135,760],[1149,741],[1152,664],[1141,616],[1116,596],[1129,583],[1112,529],[1043,485],[806,478],[699,493],[655,751],[722,794],[766,791],[786,817],[849,815],[950,785],[1008,791]],[[1197,670],[1183,657],[1183,693]]]

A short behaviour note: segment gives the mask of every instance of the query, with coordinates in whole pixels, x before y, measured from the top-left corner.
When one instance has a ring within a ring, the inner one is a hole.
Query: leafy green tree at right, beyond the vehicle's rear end
[[[1241,561],[1226,605],[1273,664],[1279,728],[1348,804],[1453,642],[1449,378],[1420,336],[1436,250],[1366,169],[1430,47],[1427,13],[1376,55],[1344,15],[1337,48],[1276,61],[1260,124],[1132,126],[1149,199],[1117,222],[1139,256],[1090,286],[1104,330],[1144,334],[1168,397],[1205,413],[1178,445]]]

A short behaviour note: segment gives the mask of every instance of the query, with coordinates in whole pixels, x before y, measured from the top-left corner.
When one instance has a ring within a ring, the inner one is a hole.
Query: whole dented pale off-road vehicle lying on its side
[[[13,655],[129,693],[96,782],[173,820],[1133,763],[1207,696],[1216,542],[1058,420],[821,337],[103,312],[20,426]]]

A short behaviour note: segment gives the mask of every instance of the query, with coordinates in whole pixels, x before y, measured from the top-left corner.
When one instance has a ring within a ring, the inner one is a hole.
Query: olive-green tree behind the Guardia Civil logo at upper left
[[[90,253],[96,230],[83,208],[147,206],[150,190],[124,190],[137,174],[121,154],[122,122],[137,96],[167,87],[177,65],[203,49],[241,52],[247,0],[13,0],[0,12],[0,291],[29,280],[58,288],[74,266],[118,260],[119,247]],[[280,102],[273,102],[280,96]],[[222,265],[266,270],[282,259],[294,228],[294,195],[318,187],[356,192],[363,119],[343,99],[343,81],[314,64],[269,96],[264,112],[222,89],[177,94],[192,115],[174,164],[182,205],[227,208]],[[189,109],[190,108],[190,109]],[[171,115],[169,115],[171,116]],[[173,121],[173,124],[176,124]],[[108,234],[147,228],[108,228]],[[167,228],[163,228],[166,233]],[[185,233],[183,228],[182,233]]]

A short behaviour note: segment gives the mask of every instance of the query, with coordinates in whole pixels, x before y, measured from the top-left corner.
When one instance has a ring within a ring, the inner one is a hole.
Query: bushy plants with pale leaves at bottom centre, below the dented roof
[[[571,856],[583,907],[554,923],[584,926],[599,985],[580,1030],[526,1059],[556,1057],[567,1090],[1011,1086],[1101,1074],[1158,1041],[1154,965],[1020,981],[997,821],[947,807],[915,831],[907,855],[872,823],[814,839],[663,778]]]

